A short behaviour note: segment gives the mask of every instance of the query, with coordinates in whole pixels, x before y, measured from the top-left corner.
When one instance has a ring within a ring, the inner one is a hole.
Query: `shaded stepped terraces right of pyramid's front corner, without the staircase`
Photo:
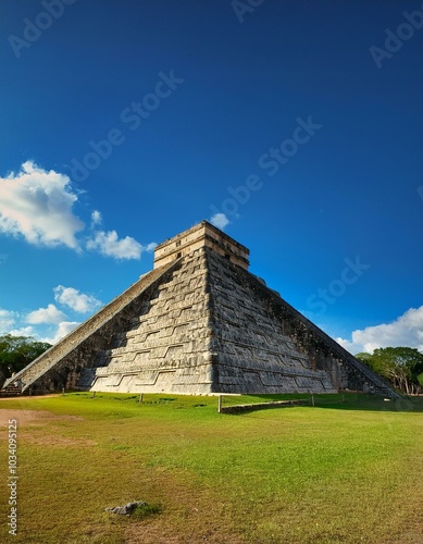
[[[335,392],[283,331],[264,285],[209,250],[214,386],[227,393]]]

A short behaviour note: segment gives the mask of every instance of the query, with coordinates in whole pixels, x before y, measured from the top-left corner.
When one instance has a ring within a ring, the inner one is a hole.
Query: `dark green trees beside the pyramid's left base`
[[[0,336],[0,383],[34,361],[46,349],[47,342],[37,342],[30,336]]]

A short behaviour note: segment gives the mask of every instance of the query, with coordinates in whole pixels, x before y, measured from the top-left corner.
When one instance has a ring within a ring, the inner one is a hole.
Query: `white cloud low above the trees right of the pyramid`
[[[423,306],[410,308],[393,323],[353,331],[351,339],[336,338],[343,347],[357,354],[373,353],[380,347],[413,347],[423,351]]]

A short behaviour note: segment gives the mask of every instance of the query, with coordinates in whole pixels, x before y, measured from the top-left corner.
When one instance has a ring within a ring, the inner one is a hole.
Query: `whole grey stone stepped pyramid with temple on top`
[[[153,270],[9,384],[33,394],[396,396],[248,267],[247,247],[202,221],[159,245]]]

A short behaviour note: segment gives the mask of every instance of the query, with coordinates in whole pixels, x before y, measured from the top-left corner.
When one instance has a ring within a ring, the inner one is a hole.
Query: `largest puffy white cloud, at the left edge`
[[[17,174],[0,177],[0,232],[22,235],[29,244],[78,250],[84,223],[72,208],[78,197],[70,178],[26,161]]]

